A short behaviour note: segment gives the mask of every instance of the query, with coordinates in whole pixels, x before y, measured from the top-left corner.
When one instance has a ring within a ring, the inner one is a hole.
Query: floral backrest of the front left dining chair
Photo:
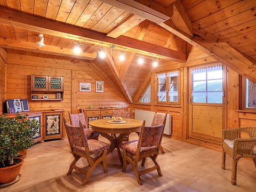
[[[81,126],[70,125],[65,117],[63,117],[63,119],[72,153],[75,152],[76,154],[78,153],[83,155],[86,153],[88,154],[89,147],[82,123],[80,122]]]

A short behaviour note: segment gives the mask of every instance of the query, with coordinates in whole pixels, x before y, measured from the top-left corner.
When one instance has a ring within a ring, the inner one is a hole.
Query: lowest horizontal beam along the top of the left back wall
[[[18,49],[22,51],[33,51],[37,53],[45,53],[45,54],[54,54],[65,57],[79,58],[79,59],[87,59],[94,60],[97,57],[97,53],[81,53],[79,55],[74,53],[73,49],[67,49],[63,47],[56,46],[42,46],[38,47],[37,43],[30,42],[21,42],[14,39],[9,38],[1,38],[0,37],[0,47],[9,48],[9,49]]]

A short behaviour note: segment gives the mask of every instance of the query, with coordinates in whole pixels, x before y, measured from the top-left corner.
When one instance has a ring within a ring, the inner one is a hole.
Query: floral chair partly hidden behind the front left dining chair
[[[70,111],[68,111],[68,114],[69,114],[69,120],[70,120],[71,125],[79,126],[79,121],[81,121],[84,128],[87,128],[86,119],[85,119],[83,111],[82,111],[82,113],[77,113],[77,114],[71,114]],[[98,140],[98,138],[99,138],[99,133],[93,131],[92,129],[89,129],[89,128],[85,129],[84,132],[85,132],[87,139],[97,139]]]

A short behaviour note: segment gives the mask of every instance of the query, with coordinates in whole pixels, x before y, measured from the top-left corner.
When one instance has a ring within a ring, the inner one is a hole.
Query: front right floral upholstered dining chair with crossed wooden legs
[[[159,164],[156,162],[156,158],[159,154],[159,146],[163,138],[164,124],[156,126],[145,126],[143,121],[139,140],[133,140],[121,143],[121,148],[124,153],[123,172],[126,170],[127,162],[132,165],[132,168],[136,174],[137,182],[142,185],[140,175],[146,174],[150,171],[157,170],[159,176],[163,176]],[[142,166],[145,166],[145,159],[150,157],[154,166],[145,170],[139,171],[138,162],[142,160]]]

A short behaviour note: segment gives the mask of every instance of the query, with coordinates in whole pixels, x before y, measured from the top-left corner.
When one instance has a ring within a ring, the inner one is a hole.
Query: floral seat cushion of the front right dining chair
[[[120,147],[123,150],[125,149],[127,151],[127,153],[129,153],[131,155],[136,155],[137,145],[138,145],[138,140],[133,140],[133,141],[128,141],[128,142],[123,142]],[[156,146],[141,147],[140,148],[140,155],[145,155],[145,154],[151,153],[153,151],[157,151]]]

